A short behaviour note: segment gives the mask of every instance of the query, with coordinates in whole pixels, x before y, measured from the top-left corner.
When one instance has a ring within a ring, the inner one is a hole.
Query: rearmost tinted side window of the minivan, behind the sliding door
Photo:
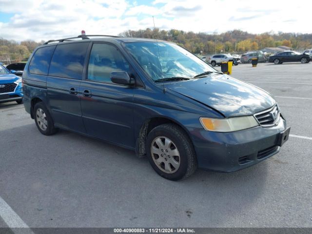
[[[49,65],[56,45],[39,48],[29,63],[29,72],[48,75]]]

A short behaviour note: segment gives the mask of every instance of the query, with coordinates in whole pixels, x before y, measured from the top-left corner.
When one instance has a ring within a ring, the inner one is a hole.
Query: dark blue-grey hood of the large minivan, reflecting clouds
[[[219,111],[225,117],[254,115],[276,102],[266,91],[228,75],[214,74],[165,85]]]

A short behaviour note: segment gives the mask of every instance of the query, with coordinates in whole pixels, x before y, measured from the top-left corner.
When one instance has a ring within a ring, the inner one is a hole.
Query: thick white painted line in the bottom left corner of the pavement
[[[16,214],[13,209],[0,197],[0,217],[15,234],[34,234],[26,223]],[[22,229],[19,229],[22,228]]]

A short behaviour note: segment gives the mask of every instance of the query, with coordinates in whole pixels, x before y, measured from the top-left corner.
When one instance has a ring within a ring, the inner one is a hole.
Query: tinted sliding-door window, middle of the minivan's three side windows
[[[82,79],[83,64],[89,43],[58,45],[51,60],[49,76]]]

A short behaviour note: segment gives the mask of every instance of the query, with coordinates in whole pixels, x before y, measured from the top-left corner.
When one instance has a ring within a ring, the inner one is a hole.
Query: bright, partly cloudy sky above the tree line
[[[153,28],[312,33],[312,1],[0,0],[0,37],[36,41]]]

